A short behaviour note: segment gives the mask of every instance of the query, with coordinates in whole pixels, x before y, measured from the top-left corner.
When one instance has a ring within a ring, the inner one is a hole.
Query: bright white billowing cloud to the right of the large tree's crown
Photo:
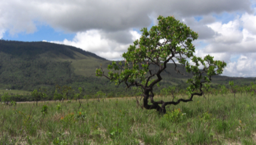
[[[208,24],[207,26],[214,30],[215,35],[211,39],[202,40],[208,45],[197,50],[195,55],[204,57],[210,54],[215,60],[225,61],[227,67],[223,75],[255,77],[256,35],[254,26],[256,21],[254,17],[253,14],[246,13],[226,24],[221,22]]]

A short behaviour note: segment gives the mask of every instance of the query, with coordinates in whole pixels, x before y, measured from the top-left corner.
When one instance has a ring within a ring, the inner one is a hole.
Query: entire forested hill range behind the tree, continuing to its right
[[[95,69],[100,64],[105,68],[111,61],[94,53],[73,46],[49,42],[20,42],[0,40],[0,89],[28,90],[44,88],[54,91],[55,85],[83,87],[87,93],[98,90],[123,92],[124,85],[116,88],[105,78],[96,78]],[[185,68],[177,66],[185,75],[175,73],[173,64],[168,64],[163,73],[162,86],[179,85],[186,87]],[[154,67],[151,68],[154,70]],[[228,84],[234,80],[239,84],[249,84],[254,78],[230,78],[216,76],[213,84]],[[115,91],[113,91],[115,90]]]

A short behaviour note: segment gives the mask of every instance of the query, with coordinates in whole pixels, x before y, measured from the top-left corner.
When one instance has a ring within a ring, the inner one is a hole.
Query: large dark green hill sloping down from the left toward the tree
[[[80,62],[84,63],[83,68]],[[33,90],[101,81],[93,78],[99,64],[110,61],[73,46],[49,42],[0,41],[0,88]],[[93,69],[94,68],[94,69]],[[79,75],[79,70],[88,70]],[[85,76],[85,77],[84,77]]]

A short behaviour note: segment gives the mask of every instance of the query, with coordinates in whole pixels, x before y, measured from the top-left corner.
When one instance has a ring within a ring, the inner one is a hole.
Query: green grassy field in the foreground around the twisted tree
[[[0,144],[256,143],[255,97],[205,97],[170,106],[165,115],[141,109],[134,98],[82,100],[80,108],[75,100],[0,104]]]

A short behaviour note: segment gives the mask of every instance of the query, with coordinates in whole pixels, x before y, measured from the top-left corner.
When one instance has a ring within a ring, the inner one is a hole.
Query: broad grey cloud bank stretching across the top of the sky
[[[210,13],[253,12],[250,0],[194,1],[15,1],[0,3],[0,25],[10,32],[34,32],[38,22],[54,28],[78,32],[91,29],[108,31],[147,27],[152,17],[162,14],[191,17]],[[154,16],[155,15],[155,16]]]

